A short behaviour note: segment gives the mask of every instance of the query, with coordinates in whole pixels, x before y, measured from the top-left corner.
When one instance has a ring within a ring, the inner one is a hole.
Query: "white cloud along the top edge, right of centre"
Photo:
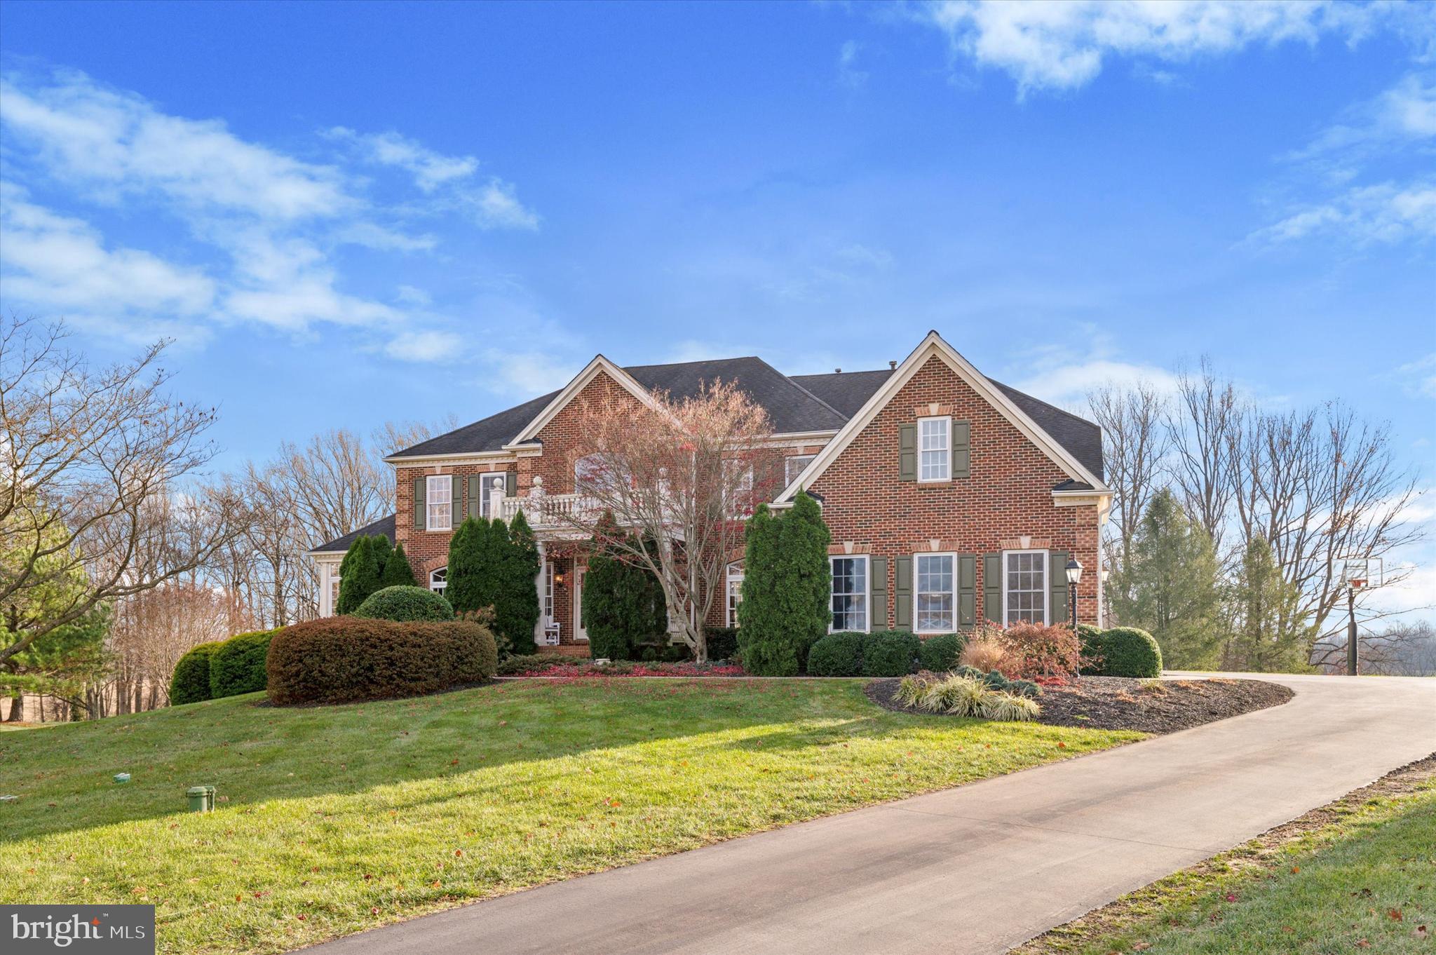
[[[1083,86],[1107,57],[1180,63],[1255,43],[1357,40],[1389,11],[1330,0],[939,0],[915,16],[941,29],[955,55],[1010,73],[1025,95]]]

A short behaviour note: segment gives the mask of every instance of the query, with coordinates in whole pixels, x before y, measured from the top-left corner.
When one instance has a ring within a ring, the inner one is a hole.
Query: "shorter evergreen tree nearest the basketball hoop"
[[[1288,583],[1265,537],[1246,541],[1232,587],[1232,633],[1222,669],[1259,674],[1310,669],[1310,633],[1300,610],[1301,590]]]

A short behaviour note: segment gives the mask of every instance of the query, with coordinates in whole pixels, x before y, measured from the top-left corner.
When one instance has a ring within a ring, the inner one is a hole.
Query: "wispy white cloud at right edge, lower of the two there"
[[[1324,202],[1298,207],[1248,241],[1277,244],[1320,234],[1360,246],[1436,237],[1436,180],[1351,187]]]

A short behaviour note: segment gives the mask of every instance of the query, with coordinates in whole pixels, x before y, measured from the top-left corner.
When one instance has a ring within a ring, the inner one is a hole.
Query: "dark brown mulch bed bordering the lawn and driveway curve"
[[[898,679],[875,679],[867,695],[879,707],[918,712],[893,695]],[[1038,722],[1093,730],[1176,732],[1244,712],[1265,709],[1292,698],[1291,689],[1264,679],[1127,679],[1080,676],[1067,686],[1047,686],[1038,702]]]

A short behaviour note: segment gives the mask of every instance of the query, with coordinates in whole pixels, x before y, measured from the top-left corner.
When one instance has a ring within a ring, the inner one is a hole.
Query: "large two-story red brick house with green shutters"
[[[1101,429],[978,372],[931,332],[900,365],[870,372],[783,375],[758,358],[619,368],[596,356],[560,391],[405,448],[395,514],[309,551],[320,613],[333,612],[337,569],[359,534],[402,541],[421,583],[445,586],[452,528],[467,514],[533,524],[543,551],[538,642],[582,646],[582,541],[550,517],[579,507],[573,460],[586,398],[642,401],[652,391],[695,395],[737,383],[764,406],[784,455],[785,487],[821,501],[833,534],[833,628],[946,633],[981,620],[1064,622],[1066,567],[1080,622],[1099,622]],[[709,625],[731,625],[742,564]]]

